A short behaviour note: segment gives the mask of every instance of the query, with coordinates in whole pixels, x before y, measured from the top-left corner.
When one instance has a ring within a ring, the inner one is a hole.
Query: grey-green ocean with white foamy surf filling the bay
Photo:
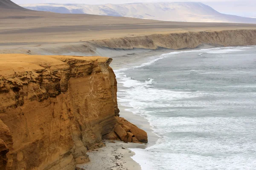
[[[119,105],[148,119],[142,170],[256,170],[256,46],[173,51],[115,70]]]

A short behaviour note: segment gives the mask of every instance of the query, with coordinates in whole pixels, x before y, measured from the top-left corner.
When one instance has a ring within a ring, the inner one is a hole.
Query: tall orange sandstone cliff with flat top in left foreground
[[[119,125],[106,57],[0,55],[0,170],[74,170]]]

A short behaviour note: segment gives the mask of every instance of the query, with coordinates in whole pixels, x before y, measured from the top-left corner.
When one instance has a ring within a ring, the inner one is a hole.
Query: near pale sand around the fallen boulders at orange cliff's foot
[[[122,85],[119,84],[121,90]],[[124,88],[124,87],[123,87]],[[120,116],[134,123],[148,133],[148,144],[124,143],[122,141],[105,140],[106,147],[87,152],[90,162],[79,164],[77,167],[85,170],[141,170],[140,164],[132,159],[135,155],[129,148],[145,149],[148,146],[155,144],[158,136],[153,133],[147,119],[134,115],[129,111],[125,111],[126,107],[119,104]]]

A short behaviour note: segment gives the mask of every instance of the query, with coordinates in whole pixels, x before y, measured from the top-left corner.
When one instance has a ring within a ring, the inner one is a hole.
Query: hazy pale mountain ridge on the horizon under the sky
[[[66,14],[96,14],[180,22],[256,23],[255,18],[221,14],[203,3],[22,4],[24,8]]]

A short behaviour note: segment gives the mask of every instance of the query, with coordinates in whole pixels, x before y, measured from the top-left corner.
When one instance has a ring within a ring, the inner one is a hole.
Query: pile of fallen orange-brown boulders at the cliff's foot
[[[124,118],[116,116],[117,123],[114,130],[105,136],[106,139],[121,140],[133,143],[148,143],[147,133]]]

